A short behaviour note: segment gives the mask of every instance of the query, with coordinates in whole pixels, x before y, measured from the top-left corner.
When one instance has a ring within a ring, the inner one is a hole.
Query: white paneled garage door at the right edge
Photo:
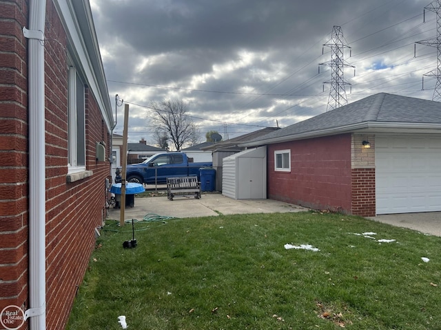
[[[441,137],[377,135],[377,214],[441,210]]]

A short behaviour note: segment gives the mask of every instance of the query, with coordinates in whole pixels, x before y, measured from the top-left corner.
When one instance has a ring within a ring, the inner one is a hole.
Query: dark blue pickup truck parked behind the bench
[[[199,168],[212,166],[212,162],[189,162],[185,153],[156,153],[141,164],[127,165],[127,181],[138,184],[165,184],[167,177],[197,175]]]

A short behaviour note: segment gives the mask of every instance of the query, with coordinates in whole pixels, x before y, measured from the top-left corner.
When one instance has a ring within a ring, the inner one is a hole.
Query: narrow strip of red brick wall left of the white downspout
[[[0,307],[28,297],[28,1],[0,2]]]

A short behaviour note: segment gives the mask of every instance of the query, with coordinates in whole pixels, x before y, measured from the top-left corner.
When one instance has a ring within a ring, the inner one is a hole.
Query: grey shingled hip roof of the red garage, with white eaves
[[[441,102],[380,93],[297,122],[241,146],[360,133],[441,133]]]

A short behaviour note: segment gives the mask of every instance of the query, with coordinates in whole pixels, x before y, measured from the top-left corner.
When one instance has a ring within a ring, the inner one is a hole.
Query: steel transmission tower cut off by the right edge
[[[429,39],[424,39],[422,41],[417,41],[416,43],[436,47],[438,61],[436,69],[433,69],[431,72],[427,72],[427,74],[423,75],[422,86],[424,89],[424,76],[436,78],[435,90],[433,91],[432,100],[441,101],[441,0],[435,0],[428,7],[424,7],[424,14],[425,10],[430,10],[431,12],[435,12],[436,14],[436,36]]]

